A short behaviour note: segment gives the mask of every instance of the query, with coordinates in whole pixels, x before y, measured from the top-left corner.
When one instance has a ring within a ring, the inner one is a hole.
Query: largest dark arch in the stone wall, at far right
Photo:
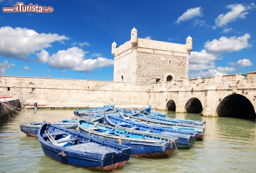
[[[217,114],[251,121],[256,119],[252,103],[241,94],[230,94],[222,99],[217,107]]]

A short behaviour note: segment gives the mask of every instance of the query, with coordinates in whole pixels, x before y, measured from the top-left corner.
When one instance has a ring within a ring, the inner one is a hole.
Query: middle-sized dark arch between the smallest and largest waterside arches
[[[198,98],[191,98],[187,101],[185,105],[187,113],[200,114],[203,111],[203,106]]]

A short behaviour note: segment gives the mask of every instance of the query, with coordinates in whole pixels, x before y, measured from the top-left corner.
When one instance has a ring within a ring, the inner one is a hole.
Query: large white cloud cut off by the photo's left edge
[[[51,47],[55,41],[69,38],[58,34],[37,33],[27,28],[0,28],[0,55],[17,59],[27,59],[30,54]]]

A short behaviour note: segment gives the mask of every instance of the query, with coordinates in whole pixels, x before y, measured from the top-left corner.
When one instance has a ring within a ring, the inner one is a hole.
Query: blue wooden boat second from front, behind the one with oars
[[[132,155],[137,157],[170,157],[176,149],[178,138],[139,131],[128,131],[123,128],[104,125],[102,123],[78,119],[81,133],[92,137],[130,146]]]

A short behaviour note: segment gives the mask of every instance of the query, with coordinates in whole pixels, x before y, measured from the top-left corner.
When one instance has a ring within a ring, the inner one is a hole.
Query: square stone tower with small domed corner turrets
[[[192,38],[186,44],[176,44],[138,38],[135,27],[131,38],[117,47],[112,43],[114,81],[148,85],[153,82],[188,79],[188,56]]]

